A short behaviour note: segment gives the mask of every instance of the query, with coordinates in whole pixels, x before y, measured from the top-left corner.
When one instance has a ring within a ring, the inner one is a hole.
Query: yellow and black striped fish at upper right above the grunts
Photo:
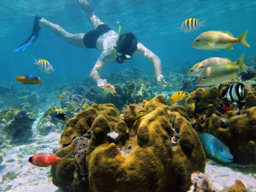
[[[206,20],[207,20],[207,18],[205,20],[202,20],[201,22],[199,22],[195,18],[188,18],[183,21],[183,23],[179,26],[179,29],[185,33],[196,31],[197,29],[199,29],[200,26],[206,27],[206,25],[204,25]]]

